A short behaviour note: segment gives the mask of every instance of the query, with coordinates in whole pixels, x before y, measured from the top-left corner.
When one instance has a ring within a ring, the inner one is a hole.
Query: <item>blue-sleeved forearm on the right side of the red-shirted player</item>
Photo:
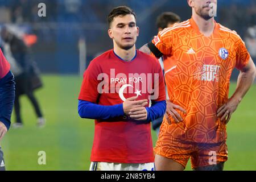
[[[147,121],[154,121],[166,113],[166,101],[159,101],[152,104],[147,109]]]

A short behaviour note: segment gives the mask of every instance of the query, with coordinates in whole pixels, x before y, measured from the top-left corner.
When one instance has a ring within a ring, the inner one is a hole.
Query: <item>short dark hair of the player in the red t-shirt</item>
[[[117,16],[125,16],[125,15],[134,15],[134,18],[136,19],[136,14],[130,7],[128,6],[118,6],[115,7],[108,15],[108,25],[110,27],[110,24],[113,22],[113,19]]]

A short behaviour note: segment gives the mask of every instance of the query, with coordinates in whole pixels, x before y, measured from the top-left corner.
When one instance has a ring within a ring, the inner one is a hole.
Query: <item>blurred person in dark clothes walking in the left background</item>
[[[7,60],[11,64],[11,71],[15,76],[16,97],[14,102],[16,123],[13,123],[14,128],[22,127],[23,122],[20,115],[19,98],[23,94],[31,101],[35,113],[38,117],[37,126],[43,127],[46,123],[38,100],[34,96],[34,90],[42,87],[42,81],[39,78],[39,71],[35,63],[29,59],[28,48],[22,39],[10,32],[7,27],[2,27],[1,38],[3,40],[3,51]]]

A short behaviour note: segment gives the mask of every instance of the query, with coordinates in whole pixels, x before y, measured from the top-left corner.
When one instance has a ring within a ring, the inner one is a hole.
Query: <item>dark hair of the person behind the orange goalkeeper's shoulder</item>
[[[172,12],[164,12],[158,16],[156,19],[156,26],[158,28],[166,28],[168,26],[168,23],[177,23],[180,22],[180,16],[172,13]]]

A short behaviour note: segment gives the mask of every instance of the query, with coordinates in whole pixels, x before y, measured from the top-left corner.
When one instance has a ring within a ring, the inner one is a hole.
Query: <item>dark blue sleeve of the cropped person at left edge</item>
[[[15,98],[15,82],[11,72],[0,80],[0,121],[7,129],[11,125],[11,113]]]

